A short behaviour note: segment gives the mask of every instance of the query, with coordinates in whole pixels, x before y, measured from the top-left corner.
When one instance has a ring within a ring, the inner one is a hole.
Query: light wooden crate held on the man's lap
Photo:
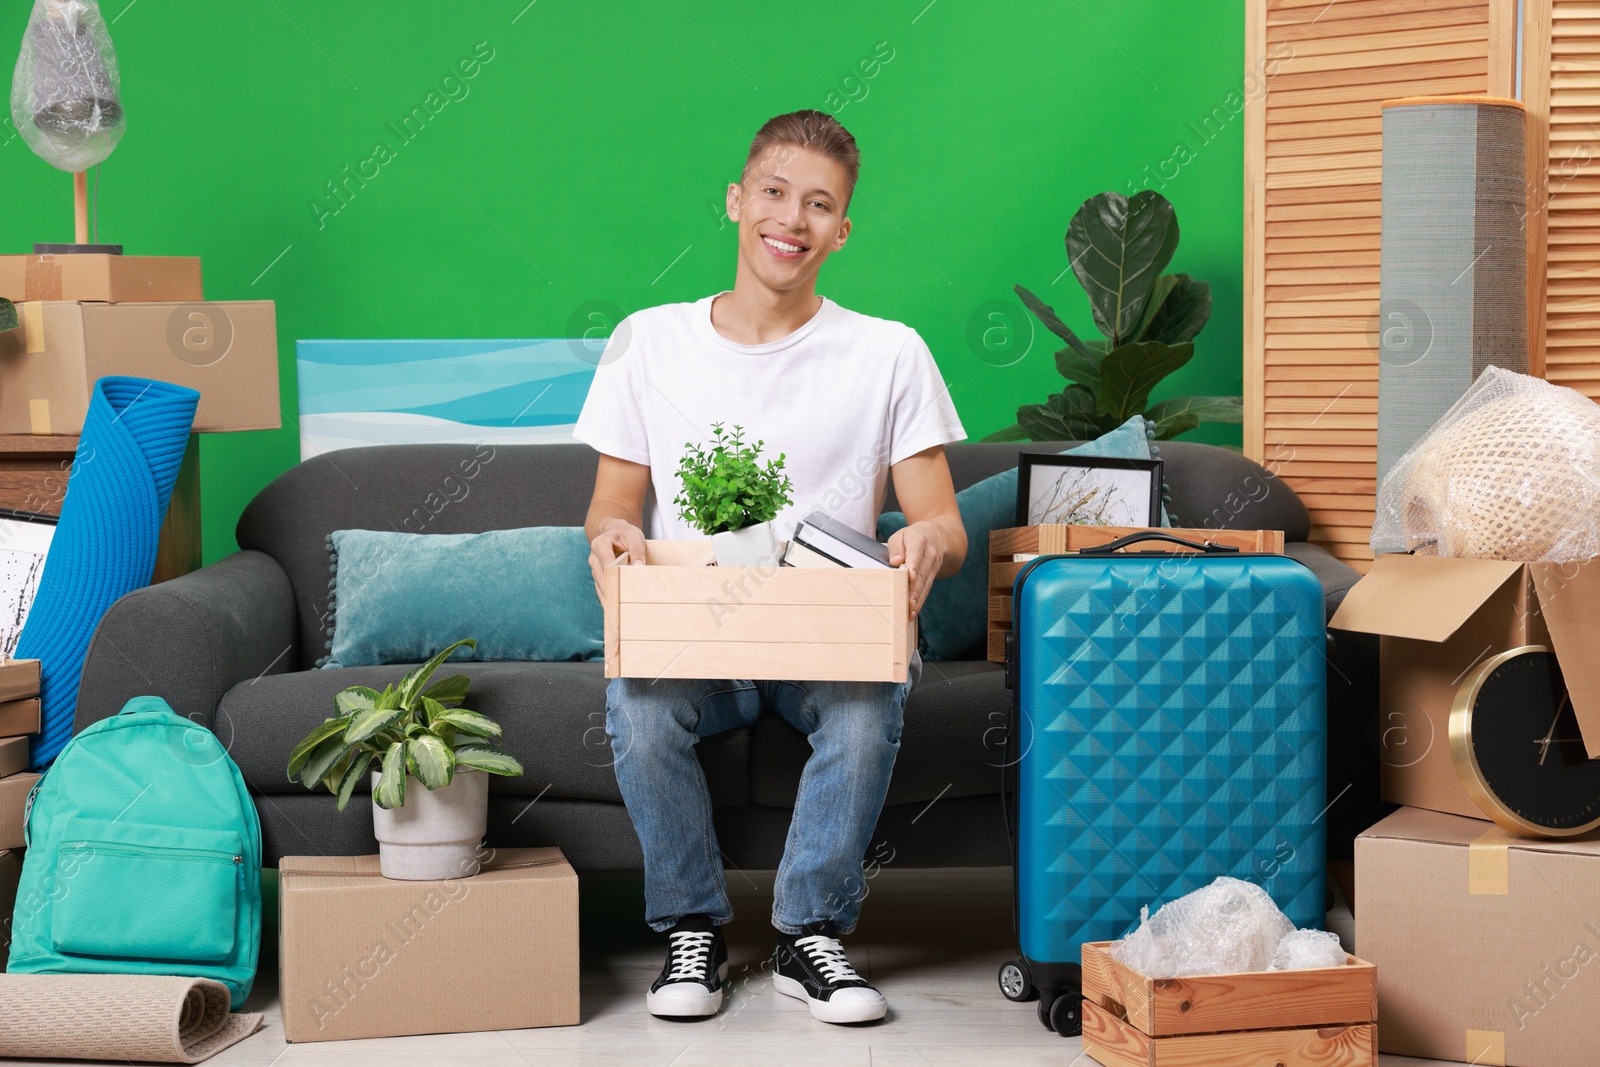
[[[710,541],[646,541],[646,566],[606,568],[606,678],[906,680],[906,568],[707,566],[710,555]]]

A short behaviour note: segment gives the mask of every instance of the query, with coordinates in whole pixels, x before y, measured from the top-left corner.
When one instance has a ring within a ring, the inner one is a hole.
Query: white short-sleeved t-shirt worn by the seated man
[[[966,437],[910,326],[824,296],[787,338],[736,344],[712,326],[712,299],[650,307],[619,323],[573,427],[606,456],[650,467],[646,536],[704,536],[672,499],[685,443],[709,448],[714,422],[765,442],[763,466],[782,453],[794,501],[774,520],[779,539],[813,510],[874,534],[890,467]]]

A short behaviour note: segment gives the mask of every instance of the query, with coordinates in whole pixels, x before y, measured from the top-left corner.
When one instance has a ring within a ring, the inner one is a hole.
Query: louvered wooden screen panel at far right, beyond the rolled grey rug
[[[1528,362],[1600,400],[1600,3],[1523,5]]]

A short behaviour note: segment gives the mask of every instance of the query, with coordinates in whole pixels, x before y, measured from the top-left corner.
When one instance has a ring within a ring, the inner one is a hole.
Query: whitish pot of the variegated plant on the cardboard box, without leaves
[[[379,773],[373,771],[373,790]],[[373,833],[384,878],[429,881],[478,873],[478,846],[490,822],[490,776],[456,768],[450,785],[426,789],[406,779],[405,803],[384,809],[373,801]]]

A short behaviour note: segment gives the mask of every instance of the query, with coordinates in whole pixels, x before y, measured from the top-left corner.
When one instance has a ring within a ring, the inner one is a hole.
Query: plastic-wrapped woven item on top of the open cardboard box
[[[1558,563],[1600,555],[1600,406],[1486,368],[1384,478],[1373,552]]]

